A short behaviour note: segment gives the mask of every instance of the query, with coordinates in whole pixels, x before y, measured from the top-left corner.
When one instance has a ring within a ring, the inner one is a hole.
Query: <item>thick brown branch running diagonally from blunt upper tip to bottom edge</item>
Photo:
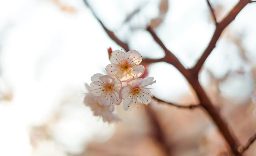
[[[163,61],[169,64],[172,64],[174,67],[176,67],[180,71],[180,73],[184,75],[184,77],[188,80],[188,82],[194,88],[197,94],[197,97],[200,101],[200,105],[208,112],[211,119],[215,122],[220,132],[222,133],[222,136],[228,142],[232,152],[237,156],[242,156],[242,154],[237,151],[238,147],[240,146],[238,139],[233,134],[233,132],[229,130],[228,124],[224,119],[221,118],[221,115],[213,106],[210,99],[207,97],[204,89],[202,88],[202,86],[198,81],[198,74],[194,74],[192,70],[186,69],[180,63],[178,58],[164,46],[162,41],[157,37],[157,35],[154,33],[154,31],[150,27],[148,27],[147,30],[150,30],[149,32],[151,33],[154,40],[165,50],[166,55],[163,58]]]

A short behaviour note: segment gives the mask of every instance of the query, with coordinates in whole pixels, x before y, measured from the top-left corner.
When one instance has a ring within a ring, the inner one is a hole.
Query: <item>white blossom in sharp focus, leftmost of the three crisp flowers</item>
[[[113,104],[120,105],[119,92],[122,83],[109,75],[94,74],[91,77],[90,92],[96,96],[95,100],[100,105],[111,106]]]

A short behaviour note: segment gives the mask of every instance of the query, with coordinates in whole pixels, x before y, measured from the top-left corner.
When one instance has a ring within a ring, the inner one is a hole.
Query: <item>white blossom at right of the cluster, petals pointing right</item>
[[[156,81],[153,81],[154,77],[135,78],[127,82],[127,85],[121,88],[120,98],[123,99],[123,108],[125,111],[131,110],[138,103],[148,104],[151,102],[151,92],[147,88],[148,85],[152,85]],[[138,106],[137,106],[138,107]]]

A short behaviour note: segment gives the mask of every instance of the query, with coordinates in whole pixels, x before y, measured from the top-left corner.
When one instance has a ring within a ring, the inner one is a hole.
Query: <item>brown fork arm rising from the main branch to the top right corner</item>
[[[196,65],[192,68],[194,74],[198,74],[202,65],[204,64],[207,57],[211,54],[211,51],[216,47],[216,43],[222,33],[222,31],[236,18],[238,13],[248,4],[251,0],[240,0],[237,5],[229,12],[229,14],[216,26],[215,32],[212,39],[205,49],[202,56],[197,61]]]

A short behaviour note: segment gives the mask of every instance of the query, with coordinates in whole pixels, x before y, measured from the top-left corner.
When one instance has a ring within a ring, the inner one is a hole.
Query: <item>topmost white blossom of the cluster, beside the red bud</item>
[[[142,56],[136,50],[130,50],[127,53],[115,50],[111,53],[111,64],[106,66],[106,71],[120,81],[129,81],[129,79],[138,78],[144,73],[144,66],[139,65],[141,61]]]

